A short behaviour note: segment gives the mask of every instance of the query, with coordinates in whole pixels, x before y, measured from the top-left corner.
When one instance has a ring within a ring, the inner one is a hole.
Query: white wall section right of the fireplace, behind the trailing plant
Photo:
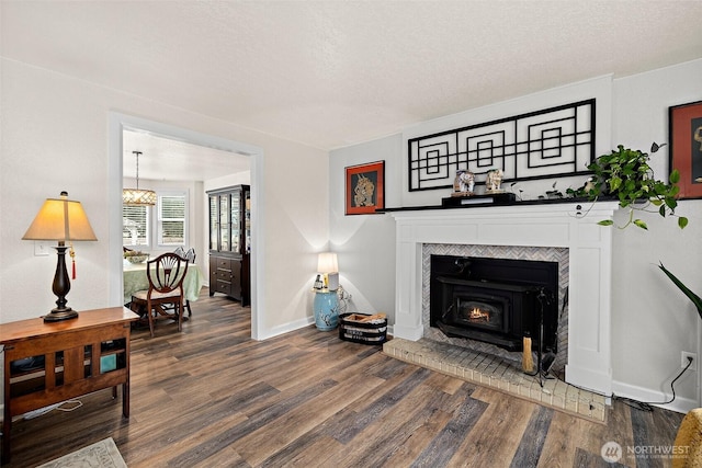
[[[702,60],[614,80],[612,141],[647,149],[668,141],[668,107],[702,100]],[[668,147],[652,155],[665,179]],[[612,304],[614,392],[642,400],[665,400],[670,379],[680,370],[680,352],[700,356],[701,320],[691,303],[657,269],[663,262],[702,294],[702,201],[680,202],[690,226],[680,230],[657,215],[647,216],[649,231],[626,229],[614,237]],[[699,375],[676,384],[673,406],[700,406]]]

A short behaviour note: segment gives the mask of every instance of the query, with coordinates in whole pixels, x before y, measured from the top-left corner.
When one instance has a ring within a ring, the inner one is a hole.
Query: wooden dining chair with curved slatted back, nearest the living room
[[[183,279],[188,273],[188,263],[172,252],[146,262],[149,288],[132,295],[131,309],[146,309],[151,336],[157,320],[174,320],[178,322],[178,331],[183,330]]]

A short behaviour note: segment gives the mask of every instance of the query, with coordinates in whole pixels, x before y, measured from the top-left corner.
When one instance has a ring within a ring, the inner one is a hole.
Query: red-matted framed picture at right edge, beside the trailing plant
[[[668,109],[670,170],[680,172],[680,198],[702,198],[702,101]]]

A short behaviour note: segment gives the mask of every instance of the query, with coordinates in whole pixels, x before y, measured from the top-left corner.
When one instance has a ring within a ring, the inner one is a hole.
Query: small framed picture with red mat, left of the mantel
[[[385,161],[346,168],[347,215],[369,215],[385,208]]]

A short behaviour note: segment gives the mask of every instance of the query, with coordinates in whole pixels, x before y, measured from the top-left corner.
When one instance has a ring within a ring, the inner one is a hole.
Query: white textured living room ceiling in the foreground
[[[700,1],[8,1],[2,56],[332,149],[702,57]]]

